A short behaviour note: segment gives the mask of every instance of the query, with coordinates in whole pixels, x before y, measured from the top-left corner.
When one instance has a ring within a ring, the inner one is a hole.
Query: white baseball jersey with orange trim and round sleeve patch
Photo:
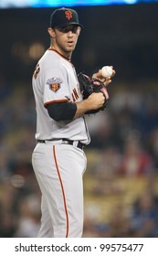
[[[84,116],[73,121],[56,122],[44,107],[51,102],[82,101],[76,70],[68,59],[48,48],[34,72],[33,90],[37,108],[37,140],[66,138],[82,144],[90,143]]]

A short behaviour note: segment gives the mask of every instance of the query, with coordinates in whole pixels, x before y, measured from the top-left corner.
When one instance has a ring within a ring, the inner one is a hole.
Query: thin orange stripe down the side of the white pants
[[[67,222],[66,238],[68,238],[68,209],[67,209],[67,202],[66,202],[66,197],[65,197],[64,186],[63,186],[62,179],[61,179],[61,176],[60,176],[60,172],[59,172],[59,169],[58,169],[58,161],[57,161],[57,157],[56,157],[55,145],[53,145],[53,155],[54,155],[55,165],[56,165],[56,168],[57,168],[58,178],[59,178],[59,182],[60,182],[60,186],[61,186],[61,190],[62,190],[62,196],[63,196],[63,200],[64,200],[64,208],[65,208],[66,222]]]

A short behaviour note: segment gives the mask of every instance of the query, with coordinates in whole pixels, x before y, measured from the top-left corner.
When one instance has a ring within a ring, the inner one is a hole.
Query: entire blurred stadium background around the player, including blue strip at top
[[[84,237],[158,237],[156,2],[67,1],[84,25],[72,57],[78,72],[91,75],[106,64],[117,72],[107,111],[87,117],[91,144],[85,149]],[[49,16],[63,5],[0,1],[2,238],[37,236],[40,192],[31,165],[36,144],[31,77],[49,46]]]

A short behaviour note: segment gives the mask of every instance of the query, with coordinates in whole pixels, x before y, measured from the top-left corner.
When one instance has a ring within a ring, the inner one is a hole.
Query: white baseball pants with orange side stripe
[[[87,159],[74,145],[38,143],[32,164],[40,187],[40,238],[79,238],[83,229],[83,180]]]

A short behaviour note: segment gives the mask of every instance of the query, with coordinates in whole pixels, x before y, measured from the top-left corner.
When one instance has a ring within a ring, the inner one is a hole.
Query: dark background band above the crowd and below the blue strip
[[[116,69],[117,81],[157,79],[157,4],[75,9],[84,25],[72,57],[77,70],[92,73],[108,64]],[[0,69],[7,80],[30,80],[37,59],[29,59],[27,51],[34,42],[49,46],[47,27],[53,10],[0,10]],[[18,54],[13,53],[15,44],[23,46]]]

